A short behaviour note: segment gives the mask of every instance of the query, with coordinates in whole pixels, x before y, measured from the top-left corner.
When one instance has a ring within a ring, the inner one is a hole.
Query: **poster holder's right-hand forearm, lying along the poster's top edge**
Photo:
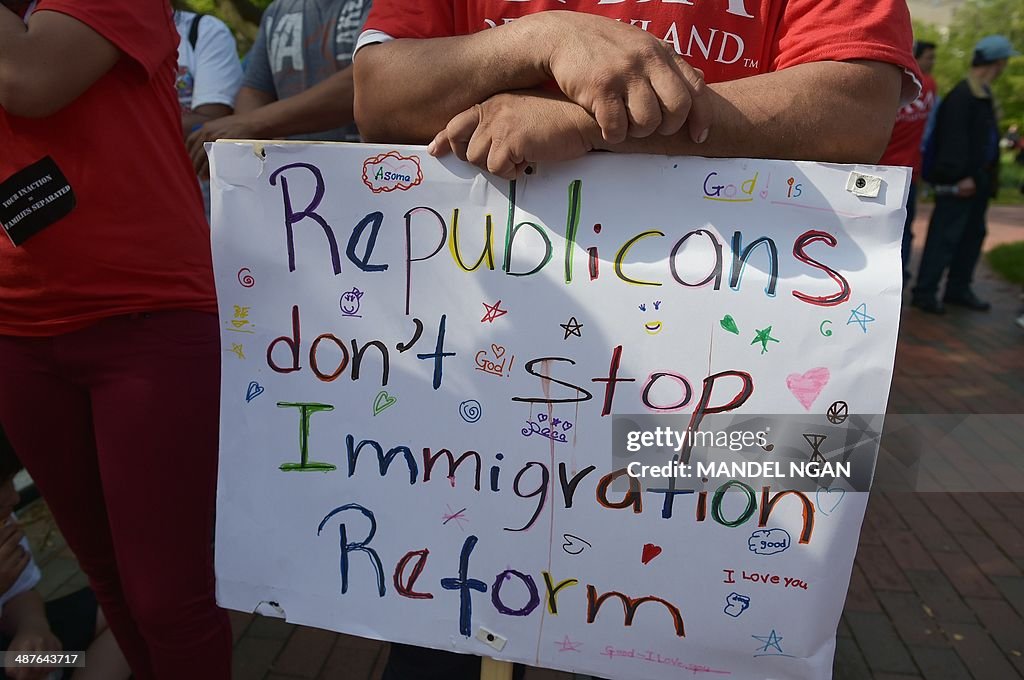
[[[608,146],[623,153],[876,163],[892,132],[901,74],[880,62],[823,61],[711,85],[713,124]],[[596,124],[595,124],[596,125]]]

